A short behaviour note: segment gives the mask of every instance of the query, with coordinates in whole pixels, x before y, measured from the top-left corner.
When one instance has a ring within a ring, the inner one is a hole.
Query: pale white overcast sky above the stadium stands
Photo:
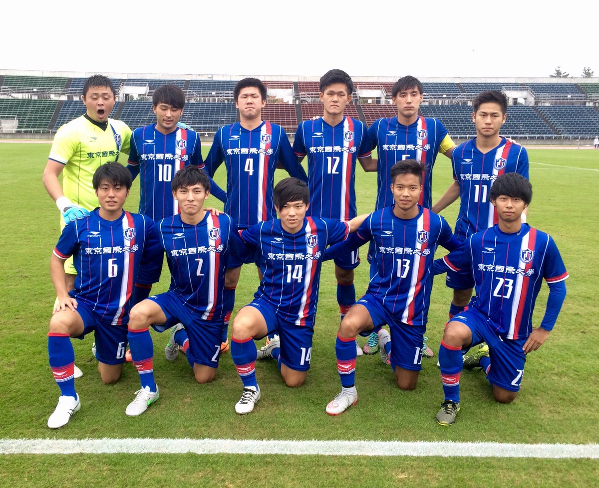
[[[559,65],[599,77],[591,1],[355,3],[13,0],[0,69],[480,78],[547,77]]]

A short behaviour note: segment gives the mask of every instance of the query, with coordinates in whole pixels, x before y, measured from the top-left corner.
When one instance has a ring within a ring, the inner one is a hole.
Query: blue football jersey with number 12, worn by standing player
[[[321,117],[297,129],[295,155],[308,156],[310,207],[307,215],[347,221],[356,216],[356,163],[371,154],[366,126],[344,117],[335,127]]]

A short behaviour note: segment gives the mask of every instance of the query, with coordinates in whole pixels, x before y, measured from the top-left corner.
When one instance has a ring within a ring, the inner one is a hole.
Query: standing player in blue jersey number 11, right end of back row
[[[489,200],[491,185],[504,173],[520,173],[528,179],[528,155],[521,145],[499,135],[506,122],[507,97],[501,91],[483,91],[472,103],[476,138],[452,152],[453,183],[432,210],[441,212],[460,199],[455,236],[464,241],[472,234],[497,224],[497,211]],[[525,213],[523,221],[525,221]],[[449,318],[462,312],[472,296],[470,273],[447,272],[446,284],[453,288]]]

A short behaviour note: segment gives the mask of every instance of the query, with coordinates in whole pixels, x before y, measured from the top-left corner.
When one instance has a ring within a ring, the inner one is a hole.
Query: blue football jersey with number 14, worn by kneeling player
[[[243,242],[256,250],[263,274],[254,297],[267,301],[285,321],[313,327],[324,250],[348,233],[347,222],[317,217],[305,217],[295,234],[283,230],[279,219],[240,231]]]

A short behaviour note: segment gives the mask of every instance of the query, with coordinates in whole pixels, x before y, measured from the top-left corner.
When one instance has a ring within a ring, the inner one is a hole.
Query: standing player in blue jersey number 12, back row
[[[366,126],[344,115],[352,100],[352,78],[340,69],[331,69],[320,78],[319,90],[324,114],[299,124],[294,140],[295,155],[300,161],[306,156],[308,160],[307,215],[348,221],[356,216],[356,163],[367,171],[376,170],[376,163]],[[341,320],[356,301],[353,270],[359,262],[358,251],[335,256]],[[362,354],[357,343],[356,352]]]

